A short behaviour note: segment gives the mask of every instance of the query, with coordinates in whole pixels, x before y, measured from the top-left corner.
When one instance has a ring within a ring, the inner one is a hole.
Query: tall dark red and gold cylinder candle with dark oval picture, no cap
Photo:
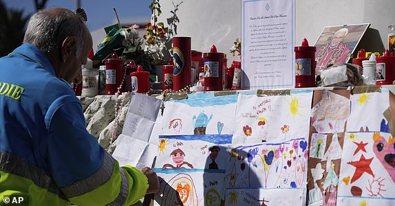
[[[191,37],[173,38],[173,90],[179,91],[191,84]]]

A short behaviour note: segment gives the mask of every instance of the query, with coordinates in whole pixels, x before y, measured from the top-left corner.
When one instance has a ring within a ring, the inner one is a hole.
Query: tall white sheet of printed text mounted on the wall
[[[294,5],[242,1],[242,89],[294,87]]]

